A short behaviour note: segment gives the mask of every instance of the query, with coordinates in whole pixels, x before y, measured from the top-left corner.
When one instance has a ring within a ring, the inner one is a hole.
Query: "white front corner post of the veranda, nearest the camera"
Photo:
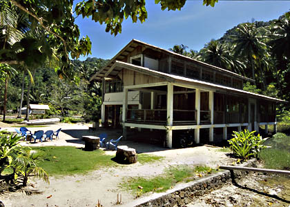
[[[173,85],[167,85],[167,126],[173,126]],[[172,148],[172,130],[167,130],[166,145]]]

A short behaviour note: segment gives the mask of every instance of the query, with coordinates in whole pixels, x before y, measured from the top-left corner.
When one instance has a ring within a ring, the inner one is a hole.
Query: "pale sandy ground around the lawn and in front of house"
[[[5,126],[1,126],[1,130]],[[27,146],[76,146],[84,147],[81,141],[82,135],[99,135],[101,132],[108,132],[108,138],[116,139],[122,134],[120,130],[89,131],[88,125],[83,124],[54,124],[43,128],[29,128],[35,130],[57,130],[61,128],[59,140],[43,141],[41,144],[23,142]],[[14,128],[6,128],[14,131]],[[221,152],[219,148],[200,146],[195,148],[166,150],[152,144],[137,143],[134,141],[120,141],[119,145],[127,145],[135,148],[138,153],[148,153],[164,157],[162,161],[153,164],[131,164],[126,166],[116,165],[114,168],[104,168],[88,172],[86,175],[76,175],[67,177],[50,177],[50,185],[41,180],[31,181],[39,194],[30,196],[24,193],[6,193],[0,195],[6,207],[10,206],[96,206],[97,201],[101,201],[103,206],[114,206],[117,201],[117,194],[122,195],[121,206],[131,206],[135,202],[135,196],[122,188],[124,179],[142,176],[152,177],[159,175],[171,165],[208,165],[216,167],[222,164],[231,164],[230,159]],[[115,155],[115,151],[106,151],[110,155]]]

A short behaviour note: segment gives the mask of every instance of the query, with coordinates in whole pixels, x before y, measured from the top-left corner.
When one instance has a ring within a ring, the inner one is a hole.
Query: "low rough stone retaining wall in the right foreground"
[[[255,166],[255,160],[248,161],[241,166]],[[212,190],[221,188],[226,182],[231,181],[231,177],[239,179],[246,175],[247,172],[235,171],[233,175],[229,170],[217,172],[213,175],[203,177],[197,181],[191,181],[187,184],[181,184],[175,188],[166,191],[166,193],[160,193],[152,195],[146,200],[135,205],[135,207],[171,207],[171,206],[182,206],[191,203],[194,197],[210,193]]]

